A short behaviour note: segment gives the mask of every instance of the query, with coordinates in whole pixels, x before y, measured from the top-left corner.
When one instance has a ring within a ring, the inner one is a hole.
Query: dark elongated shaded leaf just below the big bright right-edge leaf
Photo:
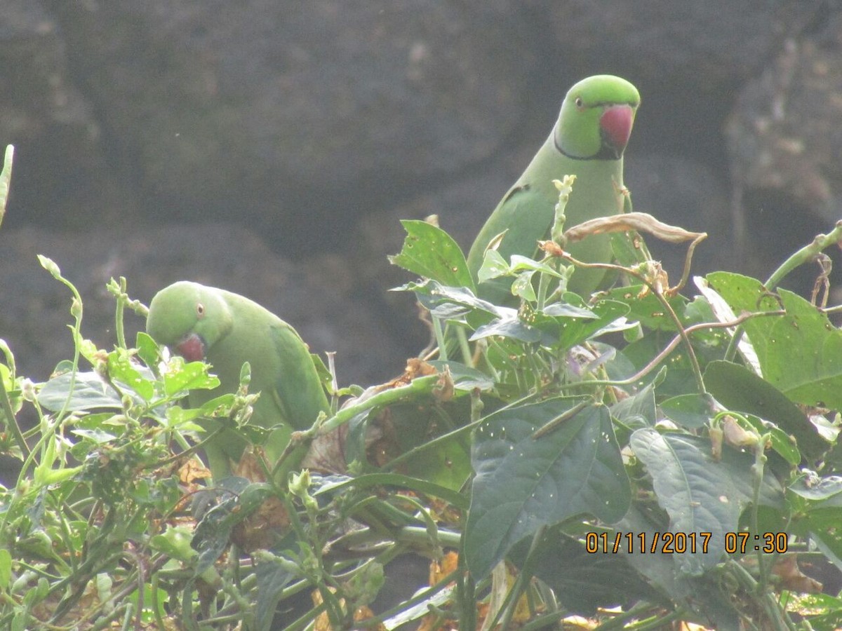
[[[707,390],[722,406],[775,423],[795,437],[798,449],[808,458],[817,459],[829,448],[798,406],[749,369],[731,362],[711,362],[704,379]]]

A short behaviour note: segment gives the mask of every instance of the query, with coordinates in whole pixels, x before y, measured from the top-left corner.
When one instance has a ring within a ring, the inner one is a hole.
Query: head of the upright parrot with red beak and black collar
[[[553,132],[558,151],[574,159],[619,160],[640,105],[626,79],[595,75],[570,88]]]

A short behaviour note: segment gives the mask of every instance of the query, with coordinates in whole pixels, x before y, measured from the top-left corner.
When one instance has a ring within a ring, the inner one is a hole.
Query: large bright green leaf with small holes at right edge
[[[743,323],[764,379],[797,403],[842,409],[842,331],[827,315],[786,289],[775,300],[754,278],[717,272],[706,279],[734,313],[786,310]]]

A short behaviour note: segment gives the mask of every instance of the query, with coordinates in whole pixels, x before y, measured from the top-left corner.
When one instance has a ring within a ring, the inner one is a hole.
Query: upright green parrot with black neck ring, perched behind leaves
[[[513,254],[533,257],[536,241],[549,238],[558,201],[554,179],[576,176],[565,229],[623,211],[623,151],[639,104],[637,88],[620,77],[597,75],[570,88],[552,133],[473,242],[467,263],[474,280],[489,241],[501,232],[508,230],[498,247],[506,261]],[[611,259],[608,235],[589,236],[566,249],[584,262]],[[604,276],[600,269],[578,269],[568,289],[587,298]],[[479,285],[477,293],[502,302],[510,300],[510,286],[510,280],[493,279]]]

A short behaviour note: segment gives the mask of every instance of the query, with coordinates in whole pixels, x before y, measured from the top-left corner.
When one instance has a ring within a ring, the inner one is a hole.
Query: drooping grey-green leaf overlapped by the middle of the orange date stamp
[[[669,531],[711,533],[706,551],[674,555],[680,573],[701,575],[722,559],[725,533],[737,531],[740,512],[753,497],[754,457],[725,448],[717,461],[709,441],[652,427],[634,432],[629,445],[652,476],[658,504],[669,514]],[[781,503],[781,487],[768,472],[760,491],[761,503]]]

